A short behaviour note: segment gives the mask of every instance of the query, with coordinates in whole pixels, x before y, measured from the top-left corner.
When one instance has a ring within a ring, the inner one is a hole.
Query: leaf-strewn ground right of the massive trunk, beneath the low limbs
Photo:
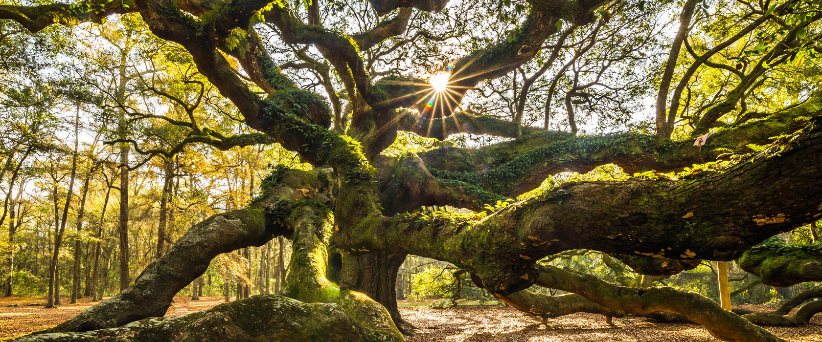
[[[764,306],[742,306],[770,311]],[[415,335],[406,342],[708,342],[718,341],[702,326],[681,323],[657,323],[645,318],[614,318],[613,326],[605,317],[593,313],[575,313],[548,320],[531,317],[505,306],[464,306],[454,309],[427,307],[399,308],[404,319],[417,326]],[[791,342],[822,342],[822,315],[810,325],[801,327],[766,327]]]

